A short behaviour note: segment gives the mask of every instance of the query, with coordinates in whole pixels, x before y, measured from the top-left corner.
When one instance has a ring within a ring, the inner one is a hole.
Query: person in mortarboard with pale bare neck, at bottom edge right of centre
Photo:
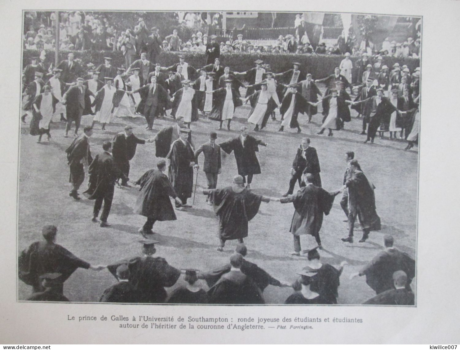
[[[312,288],[312,283],[316,282],[318,272],[306,268],[300,272],[297,272],[300,275],[301,290],[294,292],[289,295],[288,299],[284,304],[300,304],[300,305],[328,305],[333,304],[331,301],[323,297],[321,294],[314,292]]]

